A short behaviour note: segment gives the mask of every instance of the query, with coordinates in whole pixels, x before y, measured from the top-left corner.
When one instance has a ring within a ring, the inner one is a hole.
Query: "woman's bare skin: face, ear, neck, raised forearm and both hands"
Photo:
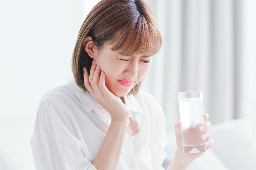
[[[138,123],[129,119],[130,112],[122,96],[128,94],[132,87],[144,78],[150,68],[153,56],[124,56],[118,51],[112,51],[111,44],[106,44],[102,50],[98,51],[93,48],[93,42],[89,40],[92,40],[92,37],[87,36],[84,40],[84,49],[94,61],[90,75],[84,68],[84,85],[94,100],[105,109],[104,114],[109,114],[108,117],[111,119],[106,137],[92,164],[97,170],[113,170],[118,166],[125,134],[128,133],[131,136],[139,131]],[[119,80],[129,80],[133,83],[126,87],[121,85]],[[208,114],[204,114],[204,121],[208,117]],[[211,139],[212,131],[209,130],[211,125],[211,122],[207,121],[201,126],[204,127],[203,130],[200,129],[201,127],[199,128],[200,131],[205,131],[202,135],[205,138],[201,137],[201,139],[206,141],[204,145],[207,150],[214,143]],[[177,150],[167,170],[187,169],[190,163],[203,153],[183,154],[180,121],[175,125],[175,136]]]

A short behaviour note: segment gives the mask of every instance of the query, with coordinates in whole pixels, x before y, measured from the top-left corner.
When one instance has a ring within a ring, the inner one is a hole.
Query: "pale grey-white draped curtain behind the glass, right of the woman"
[[[145,89],[160,102],[167,131],[177,92],[203,91],[212,124],[246,118],[256,137],[256,1],[147,0],[163,34]]]

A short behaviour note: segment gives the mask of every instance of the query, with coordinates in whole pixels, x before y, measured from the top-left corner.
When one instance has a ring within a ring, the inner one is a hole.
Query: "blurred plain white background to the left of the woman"
[[[0,168],[32,170],[36,109],[50,89],[72,78],[79,29],[96,2],[0,3]]]

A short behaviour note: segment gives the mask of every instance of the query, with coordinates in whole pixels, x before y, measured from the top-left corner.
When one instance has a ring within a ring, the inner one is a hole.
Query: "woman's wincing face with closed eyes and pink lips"
[[[125,96],[138,84],[148,72],[153,56],[125,56],[105,45],[95,50],[94,60],[105,73],[105,85],[117,96]]]

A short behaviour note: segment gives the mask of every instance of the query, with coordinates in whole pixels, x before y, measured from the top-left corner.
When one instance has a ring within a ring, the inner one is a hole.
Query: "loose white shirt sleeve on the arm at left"
[[[31,148],[36,170],[97,170],[63,109],[51,99],[38,107]]]

